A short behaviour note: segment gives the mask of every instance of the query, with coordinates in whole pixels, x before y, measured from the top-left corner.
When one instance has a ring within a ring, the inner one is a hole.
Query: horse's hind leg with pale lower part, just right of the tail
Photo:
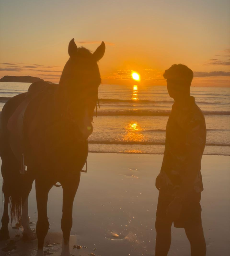
[[[25,183],[24,183],[24,186],[26,187],[26,189],[22,196],[22,211],[21,211],[21,225],[23,226],[22,235],[24,240],[33,240],[36,238],[32,229],[30,228],[30,224],[29,224],[30,219],[28,216],[28,197],[32,188],[33,181],[34,181],[34,176],[30,172],[30,170],[27,169]]]

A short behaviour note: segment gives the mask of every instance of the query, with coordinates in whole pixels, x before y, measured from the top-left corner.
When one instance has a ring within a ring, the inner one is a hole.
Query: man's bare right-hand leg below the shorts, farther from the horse
[[[185,227],[185,233],[191,245],[191,256],[205,256],[206,243],[202,224]]]

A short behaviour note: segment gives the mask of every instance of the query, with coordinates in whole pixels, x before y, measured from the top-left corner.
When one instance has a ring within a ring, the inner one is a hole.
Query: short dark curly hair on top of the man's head
[[[183,64],[173,64],[169,69],[165,70],[163,77],[174,83],[190,86],[193,79],[193,72]]]

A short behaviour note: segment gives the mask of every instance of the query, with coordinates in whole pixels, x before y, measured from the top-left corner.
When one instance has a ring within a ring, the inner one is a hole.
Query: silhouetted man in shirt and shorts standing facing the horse
[[[201,222],[201,158],[206,142],[202,111],[190,95],[193,72],[174,64],[165,70],[169,96],[174,99],[166,126],[162,167],[156,178],[159,190],[156,211],[156,256],[166,256],[171,226],[184,228],[191,256],[204,256],[206,243]]]

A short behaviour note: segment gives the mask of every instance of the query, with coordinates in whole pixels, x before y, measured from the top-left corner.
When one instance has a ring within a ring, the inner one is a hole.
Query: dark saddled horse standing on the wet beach
[[[84,47],[78,48],[73,38],[68,45],[70,58],[59,84],[32,83],[26,93],[5,103],[0,117],[5,199],[0,240],[9,238],[9,204],[11,224],[15,219],[23,227],[23,238],[35,239],[28,217],[28,195],[35,180],[37,256],[42,256],[49,229],[48,193],[59,182],[63,188],[61,256],[70,256],[73,201],[80,172],[87,164],[87,139],[93,132],[91,123],[97,102],[99,106],[101,77],[97,62],[104,53],[103,41],[92,53]]]

